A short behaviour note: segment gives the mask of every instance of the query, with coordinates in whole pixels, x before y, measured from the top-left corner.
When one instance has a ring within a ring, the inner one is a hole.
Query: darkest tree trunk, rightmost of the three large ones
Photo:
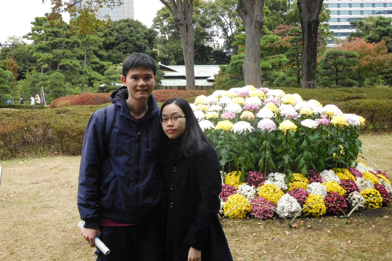
[[[302,88],[317,88],[318,16],[323,0],[297,0],[302,27]]]

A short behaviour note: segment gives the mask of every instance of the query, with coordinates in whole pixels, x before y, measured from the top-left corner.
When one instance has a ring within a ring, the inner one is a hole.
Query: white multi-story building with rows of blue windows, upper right
[[[294,0],[288,0],[288,3],[292,2]],[[331,10],[329,29],[339,39],[346,39],[355,31],[350,21],[377,15],[392,17],[392,0],[324,0],[324,3]],[[333,45],[329,40],[329,46]]]

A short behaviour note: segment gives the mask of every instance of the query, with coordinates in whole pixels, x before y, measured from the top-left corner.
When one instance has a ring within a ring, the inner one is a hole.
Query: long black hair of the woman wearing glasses
[[[163,103],[161,107],[161,117],[163,108],[171,103],[175,103],[175,105],[180,107],[185,114],[186,125],[184,133],[182,135],[183,139],[181,151],[187,157],[195,156],[202,153],[204,151],[203,142],[210,144],[210,141],[200,128],[199,122],[194,116],[188,101],[181,98],[168,99],[167,101],[165,101],[165,103]]]

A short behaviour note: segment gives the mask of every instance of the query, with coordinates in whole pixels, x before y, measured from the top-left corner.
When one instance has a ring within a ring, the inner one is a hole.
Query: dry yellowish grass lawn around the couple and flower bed
[[[392,138],[363,135],[368,166],[391,179]],[[95,260],[80,235],[76,205],[80,157],[0,162],[0,260]],[[392,205],[341,217],[223,221],[235,261],[392,260]]]

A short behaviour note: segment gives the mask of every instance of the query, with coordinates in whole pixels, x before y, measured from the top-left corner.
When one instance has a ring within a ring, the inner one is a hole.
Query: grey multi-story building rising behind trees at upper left
[[[74,0],[75,1],[75,0]],[[131,18],[134,19],[134,0],[121,0],[122,5],[107,7],[107,5],[103,5],[103,7],[99,7],[95,1],[91,0],[82,0],[81,2],[77,3],[77,7],[82,7],[84,4],[88,4],[92,2],[91,8],[97,11],[97,16],[100,19],[104,19],[105,17],[110,17],[113,21],[118,21],[121,19]],[[118,2],[118,1],[116,1]]]

